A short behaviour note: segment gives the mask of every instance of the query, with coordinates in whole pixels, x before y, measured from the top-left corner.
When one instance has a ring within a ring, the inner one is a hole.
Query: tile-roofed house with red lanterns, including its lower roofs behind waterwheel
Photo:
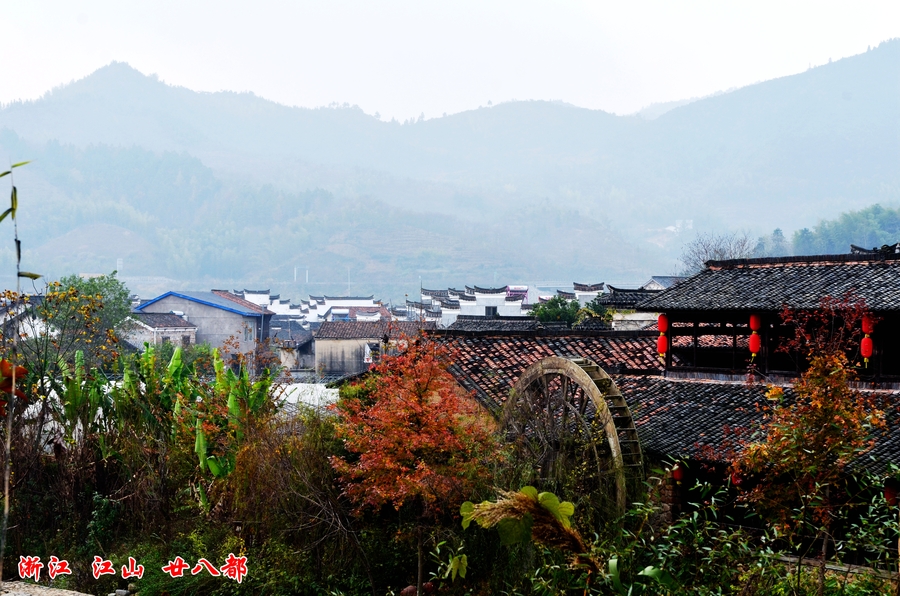
[[[890,341],[900,328],[900,254],[855,251],[711,261],[667,289],[640,292],[640,302],[634,302],[637,291],[618,298],[627,297],[632,308],[652,315],[649,329],[463,328],[429,335],[452,350],[449,370],[457,382],[498,416],[510,407],[512,396],[520,395],[514,389],[526,371],[569,363],[589,372],[589,385],[603,381],[607,384],[598,386],[608,396],[621,395],[619,403],[607,397],[610,412],[616,428],[633,425],[645,459],[706,465],[710,453],[727,447],[730,429],[749,430],[762,422],[769,385],[783,387],[786,399],[792,399],[791,386],[804,363],[796,354],[777,350],[793,333],[780,318],[782,310],[812,310],[824,297],[851,296],[865,301],[874,320],[860,329],[871,343],[850,355],[857,387],[877,399],[888,421],[887,431],[875,437],[873,450],[859,465],[884,473],[900,461],[900,348]],[[580,388],[573,392],[571,384],[548,379],[545,393],[568,387],[563,390],[570,398],[580,395]],[[618,432],[616,441],[623,439],[623,445],[635,440]],[[671,478],[666,482],[666,498],[677,509],[686,498],[679,492],[682,485]]]

